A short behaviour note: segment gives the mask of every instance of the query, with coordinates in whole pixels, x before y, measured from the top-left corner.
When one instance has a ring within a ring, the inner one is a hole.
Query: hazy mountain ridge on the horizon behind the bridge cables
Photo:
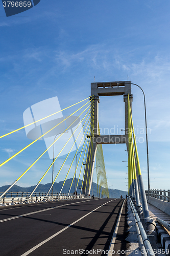
[[[53,185],[53,192],[54,193],[59,193],[61,190],[61,187],[63,185],[64,181],[60,181],[60,182],[55,182]],[[71,185],[72,179],[68,179],[65,181],[64,187],[62,189],[62,193],[68,193],[70,185]],[[78,182],[78,179],[76,179],[76,182]],[[37,189],[35,190],[35,192],[47,192],[48,189],[50,189],[52,183],[47,183],[47,184],[39,184],[39,186],[37,187]],[[79,184],[78,184],[78,194],[80,193],[80,188],[82,185],[82,180],[79,180]],[[4,192],[10,185],[5,185],[0,187],[0,191]],[[14,185],[9,192],[32,192],[32,190],[34,189],[35,186],[30,186],[30,187],[20,187],[17,185]],[[74,193],[75,191],[75,180],[72,183],[72,187],[70,190],[70,193]],[[93,185],[91,186],[91,195],[94,196],[98,196],[98,185],[93,182]],[[128,194],[128,191],[123,191],[123,190],[119,190],[119,189],[110,189],[109,188],[109,197],[110,198],[120,198],[120,196],[122,195],[123,198],[126,198],[126,195]]]

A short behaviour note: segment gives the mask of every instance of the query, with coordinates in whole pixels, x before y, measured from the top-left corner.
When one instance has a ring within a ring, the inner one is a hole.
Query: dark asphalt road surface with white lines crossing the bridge
[[[77,199],[1,207],[0,255],[107,255],[123,202]],[[126,249],[125,208],[114,244],[117,255]]]

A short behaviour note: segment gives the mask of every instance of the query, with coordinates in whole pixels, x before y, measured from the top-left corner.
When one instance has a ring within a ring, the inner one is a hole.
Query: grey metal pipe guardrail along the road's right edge
[[[137,233],[137,237],[138,237],[138,241],[139,241],[139,246],[141,251],[143,252],[142,255],[144,256],[155,256],[154,250],[151,246],[151,243],[147,237],[147,233],[145,232],[143,225],[140,221],[139,215],[137,214],[136,208],[132,202],[132,199],[130,198],[130,196],[128,196],[129,201],[130,201],[130,205],[131,205],[131,209],[133,212],[133,217],[134,217],[134,221],[135,221],[135,227],[136,227],[136,233]],[[144,246],[143,246],[144,245]],[[147,252],[146,252],[147,251]]]

